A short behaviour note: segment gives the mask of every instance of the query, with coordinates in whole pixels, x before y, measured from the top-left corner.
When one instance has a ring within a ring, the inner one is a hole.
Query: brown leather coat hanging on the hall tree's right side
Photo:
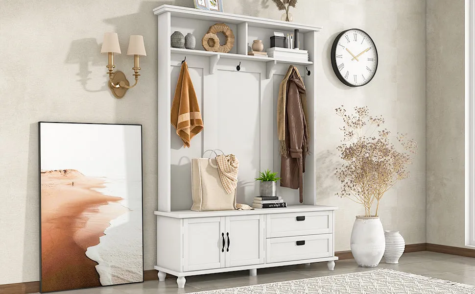
[[[309,150],[305,86],[296,68],[292,69],[286,83],[285,146],[281,148],[283,150],[281,186],[299,189],[302,203],[305,156]]]

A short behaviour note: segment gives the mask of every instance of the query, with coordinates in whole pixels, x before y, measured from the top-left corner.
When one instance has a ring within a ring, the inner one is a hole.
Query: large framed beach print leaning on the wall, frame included
[[[38,129],[41,292],[143,282],[142,125]]]

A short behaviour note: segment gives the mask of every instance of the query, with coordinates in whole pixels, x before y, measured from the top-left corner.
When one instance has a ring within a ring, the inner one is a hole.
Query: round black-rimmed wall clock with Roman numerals
[[[333,71],[342,83],[350,87],[369,83],[378,68],[378,51],[373,39],[357,28],[336,36],[331,55]]]

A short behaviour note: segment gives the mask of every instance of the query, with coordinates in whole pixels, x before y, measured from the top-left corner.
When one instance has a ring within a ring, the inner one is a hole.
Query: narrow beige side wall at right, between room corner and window
[[[462,247],[464,1],[427,1],[427,242]]]

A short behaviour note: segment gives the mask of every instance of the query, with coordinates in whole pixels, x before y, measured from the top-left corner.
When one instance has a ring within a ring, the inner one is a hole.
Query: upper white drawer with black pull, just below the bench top
[[[333,233],[333,211],[269,214],[266,238]]]

